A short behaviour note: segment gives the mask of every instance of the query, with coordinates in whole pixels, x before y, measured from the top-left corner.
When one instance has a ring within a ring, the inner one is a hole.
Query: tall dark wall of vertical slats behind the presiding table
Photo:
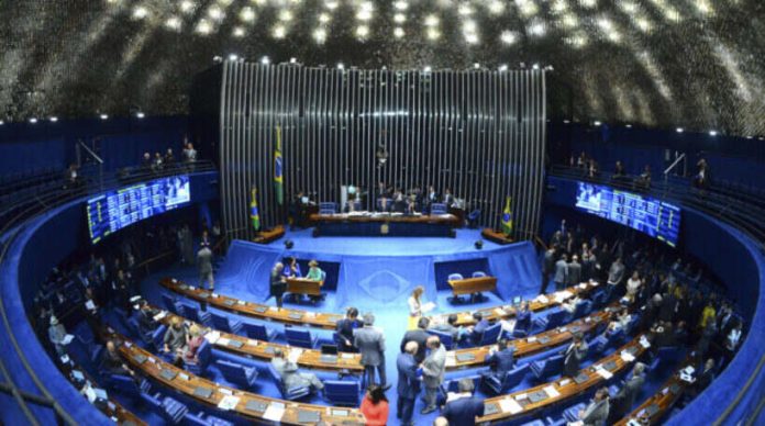
[[[226,61],[221,90],[221,208],[237,238],[286,221],[298,191],[340,201],[341,186],[446,188],[499,227],[512,197],[515,237],[541,218],[545,158],[544,70],[359,70]],[[274,148],[281,127],[285,203],[276,203]],[[378,167],[375,153],[389,157]]]

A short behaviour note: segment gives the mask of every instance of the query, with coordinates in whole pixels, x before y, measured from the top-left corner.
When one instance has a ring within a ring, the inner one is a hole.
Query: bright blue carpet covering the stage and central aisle
[[[454,253],[465,253],[467,250],[470,250],[468,253],[476,253],[477,250],[473,247],[473,243],[478,239],[477,238],[477,232],[473,231],[461,231],[457,238],[395,238],[395,237],[378,237],[378,238],[342,238],[342,237],[321,237],[321,238],[313,238],[310,236],[308,232],[298,232],[298,233],[290,233],[288,235],[290,239],[292,239],[296,244],[296,247],[293,249],[293,253],[297,251],[297,249],[300,249],[298,253],[303,253],[303,254],[311,254],[311,256],[314,256],[323,259],[322,254],[325,254],[325,256],[337,256],[343,255],[343,256],[369,256],[376,257],[376,256],[390,256],[390,257],[396,257],[397,259],[393,258],[388,258],[382,266],[380,266],[379,262],[370,264],[370,268],[391,268],[391,264],[398,262],[403,262],[401,265],[404,265],[404,267],[401,268],[403,272],[400,272],[400,274],[404,276],[404,280],[409,277],[407,277],[407,265],[408,261],[412,261],[411,258],[412,256],[430,256],[436,260],[440,260],[443,258],[443,256],[447,254],[454,254]],[[244,243],[248,244],[248,243]],[[264,282],[267,282],[268,276],[267,271],[270,269],[270,266],[274,264],[276,259],[279,257],[284,256],[284,251],[280,249],[281,243],[276,242],[273,243],[269,247],[266,247],[263,251],[260,251],[259,258],[258,256],[250,256],[252,253],[248,251],[243,251],[241,249],[237,250],[232,250],[230,251],[229,257],[219,259],[219,265],[220,268],[217,271],[217,287],[215,290],[222,294],[228,294],[232,296],[236,296],[243,300],[250,300],[250,301],[257,301],[257,302],[263,302],[265,300],[265,296],[263,294],[263,289]],[[491,251],[497,251],[497,255],[501,255],[501,247],[494,245],[492,243],[486,243],[484,246],[484,254],[489,255]],[[526,256],[528,259],[528,256]],[[507,264],[512,264],[512,262],[519,264],[519,262],[524,262],[524,259],[513,259],[511,255],[508,255],[508,259],[501,259],[495,260],[491,265],[499,265],[499,262],[507,262]],[[358,262],[356,266],[358,267]],[[364,265],[363,262],[361,265]],[[428,268],[432,268],[432,262],[428,264]],[[518,270],[523,270],[523,268],[520,268]],[[536,265],[529,265],[526,270],[539,270]],[[374,273],[374,270],[367,271],[369,273]],[[149,277],[147,277],[143,282],[141,283],[141,290],[142,294],[153,304],[156,305],[162,305],[162,300],[160,300],[160,294],[162,290],[160,287],[157,284],[158,280],[162,277],[175,277],[180,280],[190,282],[190,283],[196,283],[198,281],[198,276],[197,271],[193,267],[188,267],[188,266],[180,266],[176,265],[173,266],[166,270],[163,270],[159,273],[154,273]],[[347,278],[346,274],[342,274],[340,279],[343,280],[344,278]],[[354,276],[358,277],[358,276]],[[419,277],[418,277],[419,278]],[[436,313],[445,313],[445,312],[455,312],[455,311],[465,311],[465,310],[474,310],[474,309],[479,309],[484,306],[495,306],[497,304],[502,303],[502,298],[500,298],[498,294],[489,294],[489,298],[486,302],[480,303],[480,304],[468,304],[468,305],[452,305],[446,298],[450,295],[448,291],[436,291],[435,290],[435,283],[433,282],[433,274],[430,273],[428,278],[431,280],[430,282],[422,282],[429,288],[429,299],[434,301],[436,303]],[[524,278],[529,279],[529,278]],[[267,285],[267,284],[266,284]],[[350,287],[353,285],[359,285],[357,282],[341,282],[340,285],[345,285],[344,290],[345,291],[351,291]],[[522,295],[524,298],[533,298],[535,295],[535,291],[531,291],[531,289],[537,289],[537,285],[534,283],[533,285],[529,285],[525,288],[524,291],[520,291],[519,295]],[[552,288],[552,287],[551,287]],[[339,291],[343,291],[343,288],[339,287]],[[380,291],[389,291],[389,287],[381,288]],[[372,290],[375,290],[374,283]],[[520,289],[523,290],[523,289]],[[336,293],[330,292],[328,294],[326,301],[320,303],[317,306],[312,305],[304,305],[301,304],[299,305],[300,309],[309,310],[309,311],[321,311],[321,312],[337,312],[341,313],[344,311],[344,309],[353,304],[354,306],[358,307],[362,313],[365,312],[372,312],[375,314],[377,318],[377,326],[381,327],[385,333],[386,333],[386,339],[387,339],[387,350],[386,350],[386,369],[388,373],[389,381],[393,384],[393,388],[388,392],[388,399],[390,401],[390,425],[396,425],[398,424],[398,421],[395,418],[395,413],[396,413],[396,382],[397,382],[397,372],[396,372],[396,357],[399,354],[399,345],[401,341],[401,338],[403,336],[403,333],[406,332],[406,326],[407,326],[407,305],[406,305],[406,296],[408,296],[408,289],[404,289],[402,291],[403,294],[396,294],[393,298],[390,299],[388,303],[381,303],[378,298],[354,298],[353,300],[347,300],[347,298],[340,298]],[[518,294],[518,293],[513,293]],[[273,300],[269,301],[273,303]],[[291,304],[287,304],[288,306]],[[245,321],[250,321],[253,323],[257,323],[257,320],[252,320],[252,318],[246,318]],[[267,326],[275,328],[279,332],[282,332],[284,326],[274,324],[274,323],[264,323]],[[311,329],[312,333],[315,333],[320,339],[331,341],[332,335],[331,332],[329,330],[318,330],[318,329]],[[284,343],[284,337],[280,336],[277,340]],[[222,354],[222,352],[215,352],[217,357],[233,357],[228,354]],[[263,367],[264,363],[262,361],[256,361],[256,360],[247,360],[244,358],[236,358],[237,362],[243,362],[243,363],[248,363],[248,365],[254,365],[254,366],[259,366]],[[529,359],[523,359],[521,362],[528,362]],[[645,389],[643,391],[642,396],[650,395],[653,393],[659,385],[666,380],[667,374],[669,371],[672,371],[672,368],[674,366],[662,366],[659,368],[661,371],[655,371],[648,377],[648,380],[646,381]],[[446,374],[446,379],[457,379],[470,374],[477,374],[479,369],[468,369],[468,370],[459,370],[459,371],[452,371]],[[335,379],[336,374],[333,373],[326,373],[326,372],[318,372],[317,373],[320,378],[322,379]],[[213,367],[210,369],[209,373],[209,379],[219,381],[221,383],[229,384],[223,377],[217,371],[217,369]],[[515,390],[521,390],[525,389],[529,386],[534,385],[535,383],[532,383],[529,379],[526,379],[523,383],[521,383],[519,386],[517,386]],[[267,395],[267,396],[273,396],[273,397],[279,397],[278,390],[270,383],[268,380],[258,380],[258,383],[255,389],[252,391]],[[478,395],[480,396],[486,396],[483,394],[483,392],[479,390]],[[307,400],[306,402],[311,402],[311,403],[317,403],[317,404],[326,404],[320,396],[314,396],[311,400]],[[129,406],[132,405],[129,402],[125,402]],[[420,410],[424,407],[424,404],[422,401],[418,401],[415,405],[415,423],[418,425],[428,425],[430,424],[436,416],[436,413],[432,413],[430,415],[423,416],[420,415]],[[564,410],[565,407],[559,407],[561,411]],[[548,414],[555,414],[558,412],[557,410],[548,413]],[[141,413],[141,412],[140,412]]]

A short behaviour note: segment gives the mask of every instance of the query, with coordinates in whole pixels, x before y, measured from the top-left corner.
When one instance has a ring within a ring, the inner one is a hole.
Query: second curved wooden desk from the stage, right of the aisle
[[[587,334],[595,330],[599,324],[607,324],[609,320],[611,320],[613,312],[614,309],[609,306],[603,311],[599,311],[564,326],[525,338],[511,340],[511,345],[515,347],[514,356],[515,358],[529,357],[562,346],[574,338],[574,333]],[[446,369],[462,370],[479,367],[486,363],[486,358],[488,358],[492,348],[496,349],[497,345],[450,350],[446,352]]]

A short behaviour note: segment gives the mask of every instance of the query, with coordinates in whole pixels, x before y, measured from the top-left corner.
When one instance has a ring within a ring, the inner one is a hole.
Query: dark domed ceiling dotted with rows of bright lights
[[[13,0],[0,120],[188,112],[230,55],[400,69],[552,67],[553,120],[765,134],[762,0]]]

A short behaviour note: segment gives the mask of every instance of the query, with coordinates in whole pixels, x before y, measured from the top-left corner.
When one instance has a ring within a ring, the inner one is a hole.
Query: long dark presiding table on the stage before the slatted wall
[[[452,237],[453,228],[461,226],[454,214],[314,213],[310,220],[315,225],[314,235]]]

